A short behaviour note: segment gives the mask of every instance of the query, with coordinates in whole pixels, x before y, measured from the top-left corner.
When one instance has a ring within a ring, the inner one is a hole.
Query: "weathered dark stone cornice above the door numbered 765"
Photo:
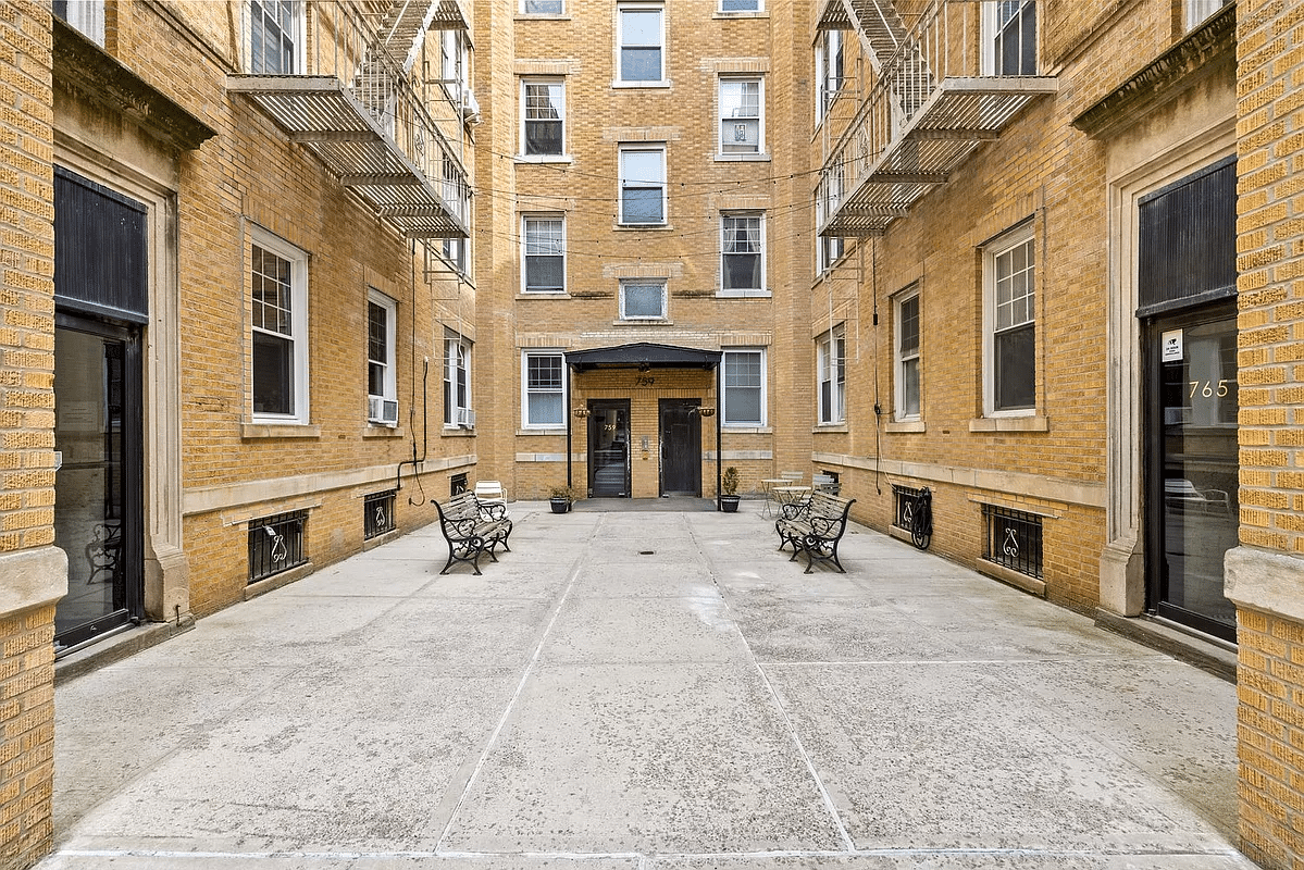
[[[1230,4],[1074,117],[1073,127],[1093,138],[1112,136],[1200,81],[1218,60],[1235,56],[1236,5]]]

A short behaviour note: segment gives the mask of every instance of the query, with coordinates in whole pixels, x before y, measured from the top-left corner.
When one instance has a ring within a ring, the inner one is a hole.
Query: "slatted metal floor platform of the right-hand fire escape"
[[[999,138],[1024,107],[1056,90],[1058,81],[1048,76],[941,80],[872,164],[861,171],[846,167],[849,189],[819,228],[820,235],[883,233],[934,187],[945,184],[982,142]],[[835,149],[832,159],[846,164],[866,160],[867,155],[854,153],[853,142]]]

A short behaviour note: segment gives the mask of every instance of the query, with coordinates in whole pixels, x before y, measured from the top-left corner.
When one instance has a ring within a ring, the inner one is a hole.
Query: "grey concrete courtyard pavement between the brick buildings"
[[[861,527],[510,506],[56,690],[42,870],[1232,870],[1235,687]]]

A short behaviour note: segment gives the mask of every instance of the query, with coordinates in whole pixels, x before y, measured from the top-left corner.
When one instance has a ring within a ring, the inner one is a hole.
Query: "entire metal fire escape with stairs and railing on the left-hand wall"
[[[244,94],[312,150],[377,217],[413,239],[466,237],[471,187],[459,140],[469,91],[425,80],[426,31],[466,29],[464,0],[243,5]],[[432,61],[439,69],[438,42]],[[455,80],[464,81],[460,56]]]

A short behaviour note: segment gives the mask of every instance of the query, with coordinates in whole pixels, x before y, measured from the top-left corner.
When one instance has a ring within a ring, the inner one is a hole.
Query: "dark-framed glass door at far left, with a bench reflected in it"
[[[141,378],[134,330],[59,314],[55,329],[55,544],[68,595],[55,648],[141,617]]]

